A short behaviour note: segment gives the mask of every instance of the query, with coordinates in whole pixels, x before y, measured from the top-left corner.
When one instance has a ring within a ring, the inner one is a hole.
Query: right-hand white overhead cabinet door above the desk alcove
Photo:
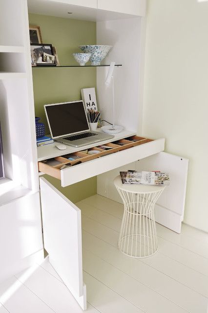
[[[145,16],[146,0],[98,0],[98,9]]]

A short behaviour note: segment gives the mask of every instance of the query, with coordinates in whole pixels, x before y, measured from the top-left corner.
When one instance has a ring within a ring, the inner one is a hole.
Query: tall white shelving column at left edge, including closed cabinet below
[[[0,1],[0,281],[43,258],[25,0]],[[3,270],[2,270],[3,269]]]

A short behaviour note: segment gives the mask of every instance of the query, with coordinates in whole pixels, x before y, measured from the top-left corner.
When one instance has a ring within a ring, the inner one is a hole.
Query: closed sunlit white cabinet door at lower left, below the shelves
[[[40,195],[21,192],[17,187],[0,196],[20,196],[0,203],[0,283],[43,259]]]

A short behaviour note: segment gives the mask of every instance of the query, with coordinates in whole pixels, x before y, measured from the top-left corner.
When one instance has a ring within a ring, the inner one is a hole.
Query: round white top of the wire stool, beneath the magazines
[[[113,180],[113,182],[117,188],[124,190],[126,192],[135,193],[135,194],[147,194],[147,193],[151,194],[151,193],[158,192],[166,188],[166,186],[123,184],[120,175],[117,176]]]

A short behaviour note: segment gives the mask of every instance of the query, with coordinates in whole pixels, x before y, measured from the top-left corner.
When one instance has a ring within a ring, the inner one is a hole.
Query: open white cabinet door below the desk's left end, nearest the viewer
[[[44,248],[49,261],[83,310],[81,211],[46,179],[40,178]]]

